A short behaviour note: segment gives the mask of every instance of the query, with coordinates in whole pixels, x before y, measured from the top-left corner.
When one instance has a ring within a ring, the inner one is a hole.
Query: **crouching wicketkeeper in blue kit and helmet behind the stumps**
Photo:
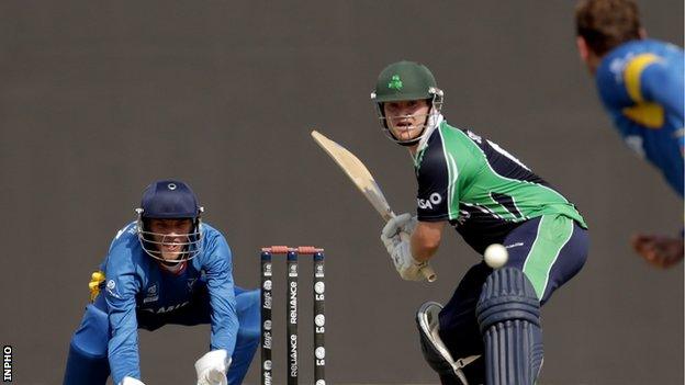
[[[198,385],[240,384],[259,344],[259,291],[234,286],[224,236],[202,223],[190,186],[147,186],[90,282],[91,304],[71,338],[65,385],[141,385],[137,329],[210,324]],[[190,365],[189,365],[190,367]]]

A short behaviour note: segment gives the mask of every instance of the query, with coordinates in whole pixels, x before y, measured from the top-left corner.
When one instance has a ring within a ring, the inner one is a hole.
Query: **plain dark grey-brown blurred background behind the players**
[[[640,5],[652,37],[683,45],[682,1]],[[91,271],[143,189],[179,178],[225,233],[243,286],[258,286],[261,246],[327,249],[329,383],[437,383],[414,313],[446,302],[480,257],[450,234],[435,284],[402,281],[380,218],[310,138],[317,128],[351,149],[395,211],[413,212],[411,159],[385,139],[369,100],[385,65],[412,59],[446,91],[449,122],[515,154],[591,226],[585,269],[543,312],[541,383],[682,384],[683,264],[652,269],[627,241],[640,230],[677,234],[683,203],[614,131],[577,58],[573,9],[569,0],[0,2],[0,343],[14,348],[14,382],[61,383]],[[308,304],[303,295],[303,383]],[[142,331],[141,346],[147,384],[191,384],[209,328]],[[284,371],[277,362],[277,383]]]

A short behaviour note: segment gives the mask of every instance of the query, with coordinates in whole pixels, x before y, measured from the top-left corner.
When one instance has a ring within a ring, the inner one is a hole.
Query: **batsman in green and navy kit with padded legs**
[[[532,385],[543,355],[540,306],[585,263],[585,220],[504,148],[450,125],[426,66],[391,64],[371,99],[383,132],[409,151],[418,183],[417,215],[398,215],[381,234],[402,279],[424,280],[448,226],[481,254],[493,244],[508,251],[501,269],[470,268],[445,307],[420,307],[426,361],[442,384]]]

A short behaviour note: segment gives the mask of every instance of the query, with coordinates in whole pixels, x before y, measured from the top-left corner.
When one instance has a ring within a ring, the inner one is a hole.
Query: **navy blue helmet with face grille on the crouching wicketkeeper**
[[[160,180],[149,184],[143,192],[141,207],[136,208],[138,240],[148,256],[162,262],[183,262],[196,257],[203,249],[201,214],[203,207],[188,184],[178,180]],[[192,219],[188,234],[157,234],[148,228],[149,219]],[[182,238],[182,241],[178,239]],[[181,245],[178,258],[167,260],[159,250],[162,246]]]

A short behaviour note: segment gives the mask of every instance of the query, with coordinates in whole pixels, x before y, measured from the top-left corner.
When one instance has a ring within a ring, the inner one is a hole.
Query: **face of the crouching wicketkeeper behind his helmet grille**
[[[167,261],[179,259],[190,239],[192,219],[150,219],[149,230],[153,234],[161,258]]]

